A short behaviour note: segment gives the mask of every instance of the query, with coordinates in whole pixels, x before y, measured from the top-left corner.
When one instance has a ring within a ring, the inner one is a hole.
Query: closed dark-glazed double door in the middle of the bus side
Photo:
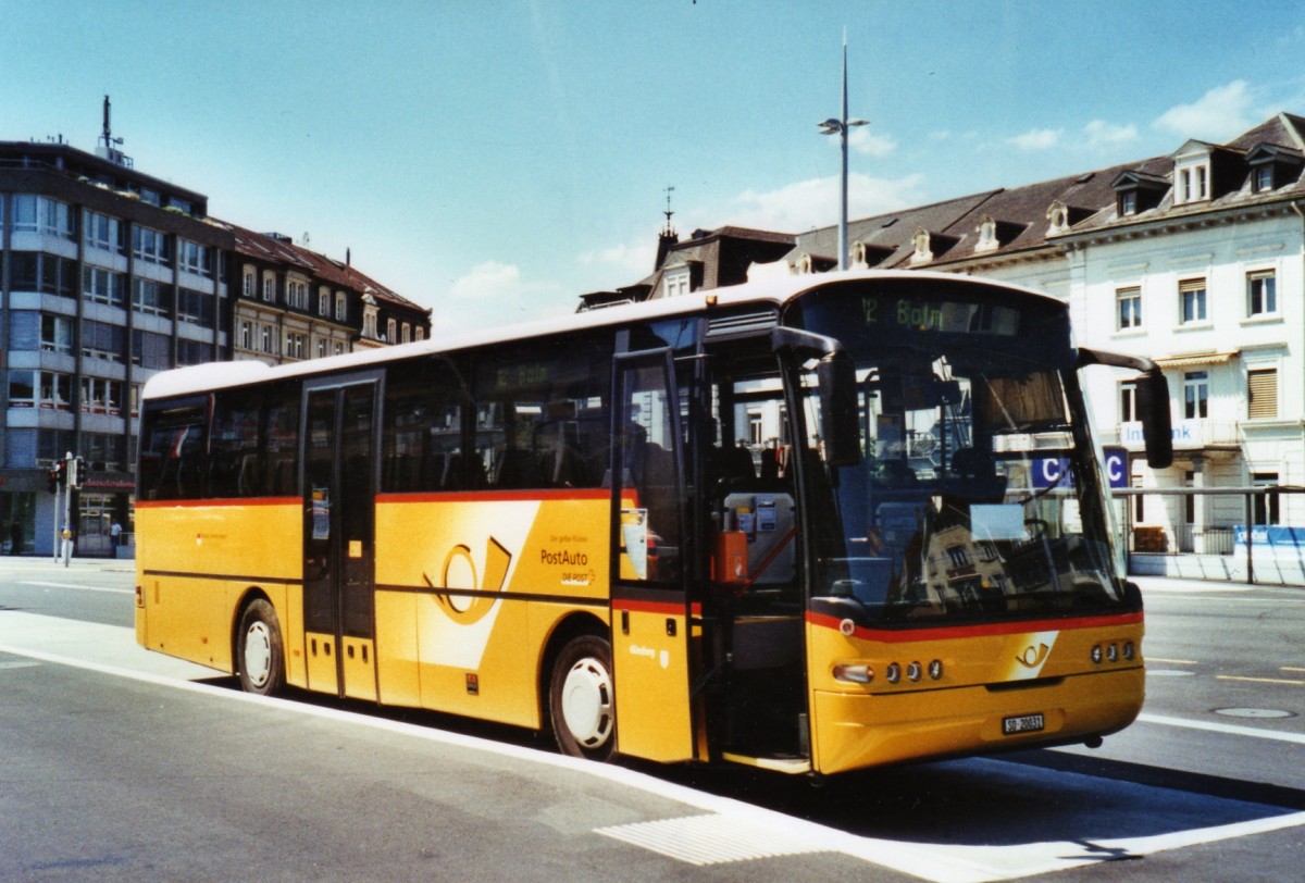
[[[377,377],[304,389],[304,655],[308,687],[376,699]]]

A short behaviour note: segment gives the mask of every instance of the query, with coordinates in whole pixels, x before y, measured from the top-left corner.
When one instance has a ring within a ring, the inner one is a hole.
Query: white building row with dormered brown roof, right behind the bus
[[[1084,373],[1098,438],[1130,451],[1134,486],[1305,485],[1302,172],[1305,119],[1279,113],[1227,143],[1188,141],[1163,157],[853,220],[850,263],[1036,288],[1070,304],[1078,343],[1159,363],[1176,449],[1159,471],[1142,455],[1128,372]],[[829,271],[837,243],[837,227],[799,233],[744,275]],[[660,278],[672,261],[659,253]],[[709,287],[696,278],[709,274],[689,277],[683,293]],[[656,295],[649,284],[622,291]],[[1246,523],[1240,496],[1138,497],[1128,514],[1171,550],[1225,550]],[[1305,527],[1305,496],[1257,498],[1253,519]]]

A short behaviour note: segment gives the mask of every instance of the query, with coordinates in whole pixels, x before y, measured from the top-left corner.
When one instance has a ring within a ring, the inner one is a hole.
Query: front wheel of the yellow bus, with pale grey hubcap
[[[609,760],[616,753],[612,646],[596,635],[573,638],[553,663],[548,716],[562,754]]]

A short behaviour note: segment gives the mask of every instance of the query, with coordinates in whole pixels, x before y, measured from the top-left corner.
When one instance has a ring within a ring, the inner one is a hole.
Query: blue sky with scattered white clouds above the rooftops
[[[681,236],[852,217],[1305,113],[1305,3],[7,0],[0,138],[94,150],[433,308],[565,313]]]

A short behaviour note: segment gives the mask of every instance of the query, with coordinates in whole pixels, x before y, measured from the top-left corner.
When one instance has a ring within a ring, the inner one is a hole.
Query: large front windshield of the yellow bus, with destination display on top
[[[809,470],[814,595],[900,626],[1126,605],[1062,304],[912,279],[830,287],[800,309],[855,364],[861,449]],[[821,451],[814,370],[803,387]]]

